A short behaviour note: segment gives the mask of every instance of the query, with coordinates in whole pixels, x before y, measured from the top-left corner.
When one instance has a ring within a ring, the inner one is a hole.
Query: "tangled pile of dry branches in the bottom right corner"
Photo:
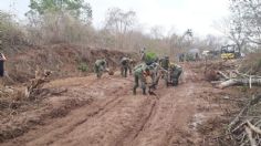
[[[261,145],[261,94],[253,96],[230,122],[221,144]]]

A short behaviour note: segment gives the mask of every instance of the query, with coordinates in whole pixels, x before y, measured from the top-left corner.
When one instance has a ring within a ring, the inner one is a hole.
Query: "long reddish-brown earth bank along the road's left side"
[[[22,48],[22,46],[21,46]],[[7,54],[7,74],[9,83],[23,83],[34,77],[36,66],[41,70],[51,70],[55,77],[79,76],[93,72],[93,64],[97,59],[106,59],[109,69],[116,69],[121,56],[133,55],[130,52],[121,52],[100,48],[80,46],[73,44],[53,44],[44,46],[28,46],[17,54]],[[84,70],[80,69],[85,64]]]

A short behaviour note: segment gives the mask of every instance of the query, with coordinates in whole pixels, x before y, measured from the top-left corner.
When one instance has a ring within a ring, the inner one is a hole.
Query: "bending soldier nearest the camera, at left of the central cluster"
[[[135,81],[135,85],[133,87],[134,95],[136,95],[136,90],[139,86],[138,82],[140,82],[142,84],[143,94],[146,95],[146,84],[147,84],[146,77],[148,76],[150,76],[150,71],[145,63],[142,63],[134,69],[134,81]]]

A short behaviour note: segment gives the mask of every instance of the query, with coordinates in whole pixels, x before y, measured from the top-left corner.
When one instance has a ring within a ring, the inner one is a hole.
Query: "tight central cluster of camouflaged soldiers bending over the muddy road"
[[[134,88],[133,93],[136,94],[136,90],[139,86],[143,90],[143,94],[146,95],[146,88],[152,94],[152,90],[156,90],[160,79],[165,80],[165,84],[176,86],[178,85],[178,79],[182,72],[181,66],[169,61],[169,56],[165,56],[160,60],[157,58],[154,61],[142,62],[134,67]],[[150,81],[150,82],[149,82]]]

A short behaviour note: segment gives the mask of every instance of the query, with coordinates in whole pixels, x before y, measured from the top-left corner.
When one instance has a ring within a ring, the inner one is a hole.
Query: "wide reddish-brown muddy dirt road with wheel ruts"
[[[46,118],[24,135],[2,145],[53,146],[176,146],[200,145],[198,126],[219,114],[215,104],[202,96],[215,91],[199,74],[184,66],[177,87],[161,83],[154,95],[132,94],[133,77],[94,75],[51,82],[49,87],[64,87],[66,93],[49,97],[53,107],[60,101],[88,101],[70,108],[59,118]],[[66,100],[64,100],[66,98]],[[209,107],[212,111],[209,111]]]

